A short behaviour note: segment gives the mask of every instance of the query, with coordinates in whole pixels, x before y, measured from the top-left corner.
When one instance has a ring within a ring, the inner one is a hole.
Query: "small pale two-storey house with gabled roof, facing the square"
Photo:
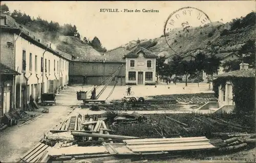
[[[137,46],[125,56],[126,85],[155,85],[156,59],[158,56],[143,47]]]

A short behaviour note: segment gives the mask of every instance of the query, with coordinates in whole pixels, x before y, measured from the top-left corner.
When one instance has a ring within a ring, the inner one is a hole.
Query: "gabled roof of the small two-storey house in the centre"
[[[129,53],[127,53],[124,56],[124,58],[137,58],[137,57],[139,57],[139,52],[143,52],[145,58],[158,58],[158,56],[155,55],[153,52],[151,52],[141,46],[136,46]]]

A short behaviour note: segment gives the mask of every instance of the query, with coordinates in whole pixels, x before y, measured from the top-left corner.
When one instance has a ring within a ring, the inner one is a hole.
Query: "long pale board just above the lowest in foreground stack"
[[[161,147],[182,147],[182,146],[201,146],[201,145],[210,145],[209,142],[193,142],[193,143],[173,143],[173,144],[161,144]],[[129,149],[134,148],[155,148],[159,147],[159,144],[148,144],[148,145],[127,145]]]

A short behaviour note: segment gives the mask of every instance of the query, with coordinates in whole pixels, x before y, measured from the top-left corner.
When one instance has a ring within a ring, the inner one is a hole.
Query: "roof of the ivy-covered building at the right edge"
[[[217,75],[217,77],[255,77],[255,69],[242,69]]]

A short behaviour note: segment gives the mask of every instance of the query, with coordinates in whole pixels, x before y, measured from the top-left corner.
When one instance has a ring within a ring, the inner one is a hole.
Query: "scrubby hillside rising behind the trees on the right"
[[[254,20],[254,21],[253,21]],[[238,22],[241,22],[238,24]],[[174,56],[175,52],[181,56],[202,50],[206,53],[215,51],[216,53],[238,51],[248,40],[254,40],[255,33],[255,13],[250,13],[246,17],[233,19],[233,21],[223,24],[212,22],[204,26],[189,28],[189,32],[175,29],[165,38],[162,35],[154,39],[156,44],[149,48],[156,55],[164,55],[166,58]],[[165,40],[166,39],[166,40]]]

